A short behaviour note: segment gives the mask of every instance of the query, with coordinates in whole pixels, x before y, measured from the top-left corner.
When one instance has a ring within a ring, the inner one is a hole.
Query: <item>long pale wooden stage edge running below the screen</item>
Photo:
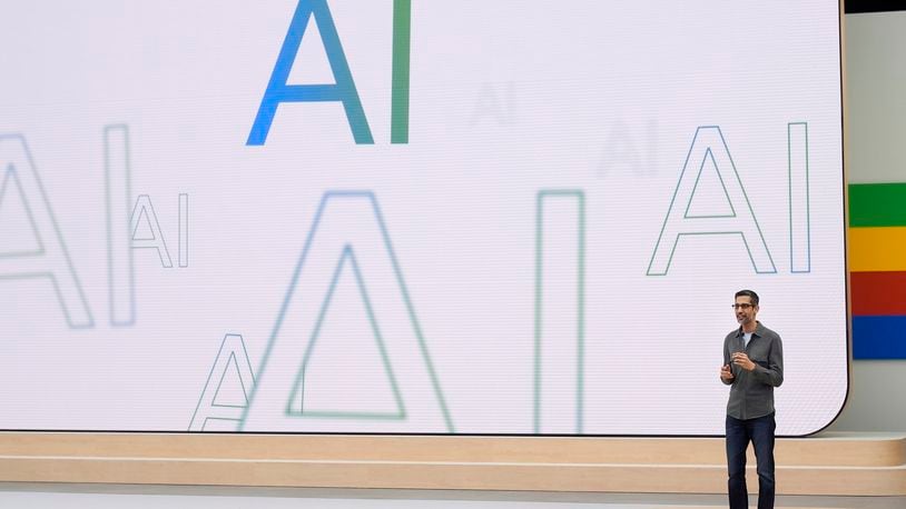
[[[904,435],[776,457],[779,495],[906,496]],[[725,465],[722,438],[0,432],[0,482],[723,493]]]

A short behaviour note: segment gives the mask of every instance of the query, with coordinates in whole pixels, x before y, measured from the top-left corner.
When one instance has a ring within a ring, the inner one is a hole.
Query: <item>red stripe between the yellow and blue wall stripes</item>
[[[906,271],[850,272],[853,316],[906,315]]]

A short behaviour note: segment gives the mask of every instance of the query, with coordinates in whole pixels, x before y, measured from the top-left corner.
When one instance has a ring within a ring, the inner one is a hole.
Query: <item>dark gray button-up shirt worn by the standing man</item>
[[[730,359],[738,351],[749,356],[755,362],[755,370],[746,371],[733,366]],[[727,415],[736,419],[755,419],[771,413],[774,388],[784,383],[784,345],[780,336],[759,321],[747,347],[740,327],[723,340],[723,363],[730,365],[733,372],[733,379],[728,383],[732,387]]]

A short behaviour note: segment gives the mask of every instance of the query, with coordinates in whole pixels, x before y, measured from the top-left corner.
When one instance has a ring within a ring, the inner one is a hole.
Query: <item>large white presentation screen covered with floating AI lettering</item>
[[[740,289],[843,407],[837,1],[8,3],[0,429],[720,435]]]

